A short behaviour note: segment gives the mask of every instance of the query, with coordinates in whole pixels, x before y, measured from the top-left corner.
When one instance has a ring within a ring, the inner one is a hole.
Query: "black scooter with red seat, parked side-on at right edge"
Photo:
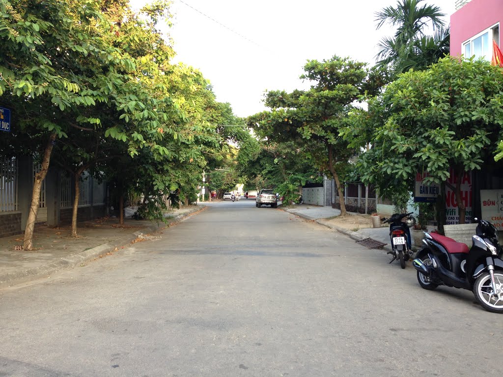
[[[425,232],[425,247],[412,265],[421,287],[433,291],[438,286],[472,291],[482,307],[503,313],[503,248],[496,228],[478,220],[472,247],[437,233]]]

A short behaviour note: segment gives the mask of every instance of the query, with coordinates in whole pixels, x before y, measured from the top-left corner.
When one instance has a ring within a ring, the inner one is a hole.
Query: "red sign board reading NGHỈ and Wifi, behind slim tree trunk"
[[[451,168],[451,176],[447,180],[453,186],[456,186],[457,176],[454,174],[454,169]],[[461,200],[466,209],[465,224],[471,223],[472,218],[472,190],[471,190],[471,171],[464,172],[461,178]],[[459,209],[456,193],[452,191],[448,185],[445,187],[445,215],[446,225],[459,224]]]

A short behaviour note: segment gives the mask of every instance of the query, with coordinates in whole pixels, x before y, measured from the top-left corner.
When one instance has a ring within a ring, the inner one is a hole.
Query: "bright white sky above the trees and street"
[[[217,101],[246,117],[267,110],[265,90],[306,88],[298,78],[306,60],[339,55],[373,65],[377,43],[393,34],[385,26],[376,31],[374,14],[396,1],[173,0],[174,26],[166,32],[174,40],[175,61],[201,70]],[[454,1],[426,4],[439,6],[448,23]],[[146,2],[131,3],[137,8]]]

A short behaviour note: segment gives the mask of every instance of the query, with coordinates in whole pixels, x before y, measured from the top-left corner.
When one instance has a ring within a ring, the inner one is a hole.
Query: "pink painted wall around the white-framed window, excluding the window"
[[[451,16],[451,55],[461,55],[463,42],[501,21],[503,21],[501,0],[472,0],[460,8]]]

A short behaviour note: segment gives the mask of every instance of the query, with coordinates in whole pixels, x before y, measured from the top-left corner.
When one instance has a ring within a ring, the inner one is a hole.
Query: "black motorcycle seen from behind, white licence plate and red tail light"
[[[402,268],[405,268],[405,262],[414,254],[409,228],[415,224],[415,219],[410,215],[412,215],[412,212],[395,213],[389,219],[381,219],[382,222],[389,224],[391,251],[388,251],[387,254],[393,255],[390,263],[398,259]]]

